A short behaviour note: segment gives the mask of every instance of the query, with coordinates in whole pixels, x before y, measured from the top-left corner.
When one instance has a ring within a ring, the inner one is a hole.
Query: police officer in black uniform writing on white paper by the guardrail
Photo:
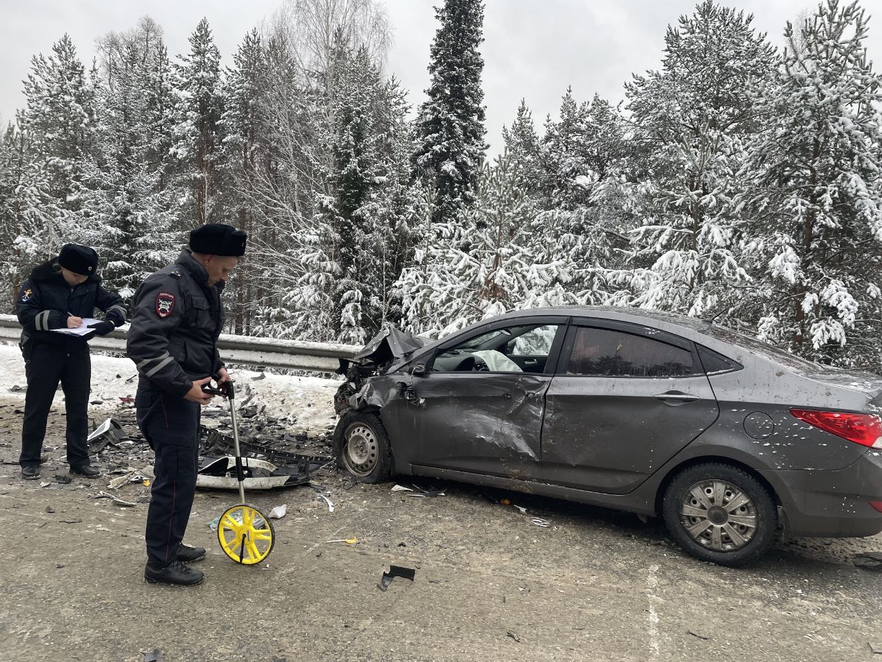
[[[22,326],[27,390],[21,428],[21,475],[40,478],[40,459],[46,419],[58,382],[64,390],[67,413],[67,462],[71,472],[88,478],[100,475],[89,463],[86,436],[92,362],[87,337],[106,335],[125,321],[123,299],[101,287],[98,253],[89,246],[64,244],[56,260],[34,267],[16,300]],[[67,335],[52,329],[78,328],[95,307],[106,321],[91,325],[93,333]]]

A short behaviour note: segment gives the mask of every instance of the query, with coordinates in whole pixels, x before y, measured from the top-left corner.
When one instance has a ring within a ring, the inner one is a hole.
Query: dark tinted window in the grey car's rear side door
[[[606,328],[579,327],[566,374],[595,377],[677,377],[696,370],[689,350]]]

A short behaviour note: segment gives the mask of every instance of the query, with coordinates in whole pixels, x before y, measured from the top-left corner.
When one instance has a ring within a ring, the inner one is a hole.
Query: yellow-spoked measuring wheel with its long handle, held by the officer
[[[233,444],[235,447],[235,478],[239,482],[239,503],[227,508],[218,522],[218,542],[223,553],[236,563],[250,566],[265,560],[273,551],[275,531],[273,524],[257,508],[248,506],[245,501],[245,472],[242,468],[242,452],[239,450],[239,425],[235,418],[233,397],[235,388],[232,381],[225,381],[218,388],[204,386],[202,390],[214,395],[224,395],[229,401],[229,412],[233,417]]]

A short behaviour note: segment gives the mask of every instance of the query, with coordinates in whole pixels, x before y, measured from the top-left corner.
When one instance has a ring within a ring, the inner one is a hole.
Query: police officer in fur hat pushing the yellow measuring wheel
[[[183,545],[183,533],[196,492],[201,407],[212,398],[202,387],[213,376],[219,386],[229,380],[217,350],[221,291],[246,238],[221,223],[194,229],[190,248],[135,293],[127,350],[138,365],[138,425],[155,454],[146,524],[149,583],[189,586],[203,579],[184,564],[206,551]]]

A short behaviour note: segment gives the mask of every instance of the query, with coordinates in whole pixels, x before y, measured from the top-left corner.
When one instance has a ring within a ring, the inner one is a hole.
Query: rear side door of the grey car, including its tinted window
[[[718,414],[691,342],[649,327],[574,319],[546,397],[543,477],[631,492]]]

